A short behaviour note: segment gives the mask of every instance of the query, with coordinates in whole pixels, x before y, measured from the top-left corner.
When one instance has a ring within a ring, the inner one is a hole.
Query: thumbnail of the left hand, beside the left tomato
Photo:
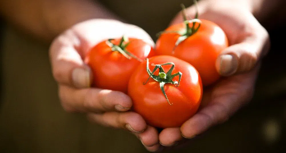
[[[75,68],[72,72],[72,81],[76,87],[90,87],[90,70]]]

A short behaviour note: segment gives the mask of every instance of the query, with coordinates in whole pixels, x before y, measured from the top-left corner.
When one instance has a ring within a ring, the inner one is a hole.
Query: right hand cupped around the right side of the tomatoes
[[[253,96],[260,59],[269,50],[269,35],[252,15],[250,7],[241,7],[244,4],[232,1],[221,2],[200,1],[199,19],[216,23],[227,34],[230,46],[217,58],[216,68],[221,76],[228,77],[204,89],[200,109],[180,128],[160,132],[159,141],[163,146],[173,146],[183,137],[192,138],[224,123]],[[194,17],[195,13],[195,6],[186,10],[187,16]],[[182,15],[178,14],[171,25],[181,22]]]

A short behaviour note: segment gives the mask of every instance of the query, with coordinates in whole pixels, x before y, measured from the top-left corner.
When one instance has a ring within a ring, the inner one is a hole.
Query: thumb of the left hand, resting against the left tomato
[[[59,84],[90,87],[92,73],[76,50],[79,40],[70,30],[59,36],[49,50],[52,72]]]

